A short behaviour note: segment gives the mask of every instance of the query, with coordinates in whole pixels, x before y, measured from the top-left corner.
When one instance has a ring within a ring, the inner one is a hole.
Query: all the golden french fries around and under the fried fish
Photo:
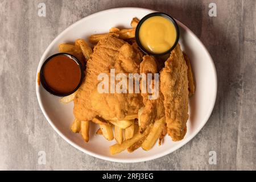
[[[110,28],[108,34],[96,34],[89,37],[89,42],[91,44],[97,44],[102,38],[106,36],[115,36],[124,40],[131,40],[135,38],[135,28],[139,22],[138,18],[133,18],[131,21],[130,29],[119,29],[116,27]],[[75,44],[60,44],[59,52],[70,53],[76,56],[81,63],[86,65],[86,61],[90,59],[93,53],[92,48],[83,39],[77,39]],[[184,57],[186,55],[184,54]],[[193,87],[193,76],[192,70],[189,63],[189,59],[186,56],[185,60],[188,65],[188,77],[189,77],[189,96],[195,92]],[[77,90],[79,92],[79,90]],[[77,92],[60,99],[60,102],[67,104],[74,100]],[[143,108],[142,108],[143,109]],[[103,119],[100,117],[93,118],[92,121],[79,121],[74,119],[71,131],[73,133],[80,133],[85,142],[89,142],[89,125],[91,123],[96,123],[100,128],[97,130],[97,135],[102,135],[106,140],[111,141],[116,140],[116,144],[110,146],[110,154],[118,154],[124,150],[128,152],[133,152],[137,148],[142,147],[143,150],[150,150],[159,138],[159,145],[162,144],[164,136],[167,134],[167,127],[165,117],[156,120],[144,131],[139,130],[138,120],[141,116],[141,110],[138,114],[127,115],[125,119],[118,120],[117,118]]]

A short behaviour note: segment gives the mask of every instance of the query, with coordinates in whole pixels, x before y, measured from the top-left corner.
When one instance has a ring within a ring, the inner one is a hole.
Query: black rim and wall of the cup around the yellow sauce
[[[152,52],[149,52],[149,51],[147,51],[147,50],[142,46],[141,42],[139,41],[139,28],[141,28],[142,23],[143,23],[146,19],[148,19],[148,18],[150,18],[150,17],[152,17],[152,16],[163,16],[164,18],[170,19],[170,21],[171,21],[172,23],[174,23],[174,26],[175,26],[175,28],[176,28],[177,36],[176,36],[176,40],[175,40],[174,46],[172,46],[172,47],[171,47],[170,49],[168,49],[168,51],[166,51],[166,52],[163,52],[163,53],[152,53]],[[153,55],[153,56],[166,55],[167,53],[170,53],[170,52],[172,51],[172,49],[174,49],[174,48],[176,47],[177,43],[179,42],[179,38],[180,38],[179,26],[178,26],[177,22],[175,21],[175,19],[172,18],[172,16],[170,16],[170,15],[168,15],[168,14],[166,14],[166,13],[160,13],[160,12],[150,13],[150,14],[144,16],[144,17],[139,21],[139,23],[138,23],[138,25],[137,25],[137,27],[136,27],[136,31],[135,31],[135,39],[136,39],[136,42],[137,42],[139,48],[140,48],[144,53],[146,53],[146,54],[148,54],[148,55]]]

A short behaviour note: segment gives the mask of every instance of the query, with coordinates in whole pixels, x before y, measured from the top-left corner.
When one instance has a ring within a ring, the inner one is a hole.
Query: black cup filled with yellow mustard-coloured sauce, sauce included
[[[135,31],[139,48],[153,56],[170,53],[176,47],[179,36],[179,26],[175,19],[159,12],[144,16]]]

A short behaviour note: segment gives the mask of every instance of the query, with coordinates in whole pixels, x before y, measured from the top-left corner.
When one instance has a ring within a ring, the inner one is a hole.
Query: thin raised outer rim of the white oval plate
[[[117,8],[113,8],[113,9],[107,9],[107,10],[99,11],[97,13],[85,16],[84,18],[82,18],[82,19],[78,20],[77,22],[71,24],[69,27],[65,28],[65,30],[62,31],[59,35],[57,35],[56,38],[53,39],[52,42],[48,45],[48,47],[46,48],[46,51],[44,51],[44,53],[41,56],[40,61],[38,63],[38,68],[37,68],[37,71],[36,71],[36,81],[35,81],[36,82],[36,97],[38,99],[40,109],[42,110],[42,113],[43,113],[44,117],[47,119],[47,122],[51,125],[53,130],[55,130],[56,133],[59,134],[60,137],[63,138],[66,142],[71,144],[71,146],[77,148],[77,150],[80,150],[80,151],[84,152],[85,154],[88,154],[88,155],[93,156],[93,157],[98,158],[98,159],[107,160],[109,162],[117,162],[117,163],[146,162],[148,160],[154,160],[154,159],[162,158],[163,156],[171,154],[172,152],[176,151],[177,149],[183,147],[190,140],[192,140],[199,133],[199,131],[201,131],[201,129],[205,126],[205,124],[208,122],[208,120],[210,118],[210,115],[212,114],[212,111],[213,111],[214,106],[216,104],[216,98],[217,98],[217,71],[216,71],[216,67],[214,65],[214,61],[212,59],[212,56],[210,56],[210,53],[209,53],[208,49],[204,46],[204,44],[201,42],[201,40],[187,26],[185,26],[179,20],[175,19],[177,21],[177,23],[179,24],[179,26],[183,27],[185,31],[190,32],[195,37],[195,39],[200,42],[201,46],[203,46],[203,48],[206,50],[206,53],[207,53],[207,55],[210,58],[210,64],[211,64],[211,66],[213,68],[214,81],[215,81],[214,85],[216,85],[215,88],[213,88],[214,89],[214,96],[213,96],[214,97],[214,102],[212,102],[212,104],[210,104],[209,110],[208,110],[208,113],[206,114],[205,119],[200,124],[200,126],[197,128],[197,130],[195,131],[194,134],[190,135],[188,138],[185,138],[185,139],[181,140],[181,142],[179,144],[176,144],[174,147],[170,148],[170,150],[167,150],[167,151],[164,151],[164,152],[160,152],[159,154],[154,154],[154,155],[143,157],[143,158],[139,158],[139,159],[116,159],[116,158],[111,158],[109,156],[95,154],[94,152],[90,152],[90,151],[86,150],[85,148],[80,147],[78,144],[72,142],[70,139],[65,137],[65,135],[62,134],[61,131],[59,131],[59,129],[57,129],[57,127],[53,124],[51,119],[49,119],[49,117],[48,117],[48,115],[46,113],[46,110],[44,109],[44,106],[42,104],[42,100],[40,98],[40,93],[39,93],[39,86],[40,85],[38,85],[37,77],[38,77],[38,72],[40,70],[40,67],[41,67],[41,65],[43,63],[43,57],[46,57],[47,53],[49,52],[50,47],[52,47],[52,45],[56,42],[57,39],[59,39],[63,34],[65,34],[65,32],[69,31],[72,27],[74,27],[77,24],[79,24],[80,22],[82,22],[84,19],[92,18],[93,16],[97,16],[99,14],[108,13],[108,11],[129,10],[129,9],[131,9],[133,11],[134,10],[147,10],[147,11],[155,12],[155,10],[144,9],[144,8],[141,8],[141,7],[117,7]]]

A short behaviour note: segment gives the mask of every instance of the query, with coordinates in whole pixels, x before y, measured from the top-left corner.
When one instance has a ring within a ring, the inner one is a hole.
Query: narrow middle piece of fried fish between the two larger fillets
[[[146,55],[140,64],[140,73],[158,73],[156,60],[153,56]],[[152,80],[154,83],[154,80]],[[153,86],[153,85],[152,85]],[[155,85],[154,85],[155,86]],[[163,94],[158,89],[159,97],[156,100],[149,100],[149,93],[142,93],[144,107],[142,109],[141,118],[139,119],[140,129],[143,131],[152,122],[164,116]]]

